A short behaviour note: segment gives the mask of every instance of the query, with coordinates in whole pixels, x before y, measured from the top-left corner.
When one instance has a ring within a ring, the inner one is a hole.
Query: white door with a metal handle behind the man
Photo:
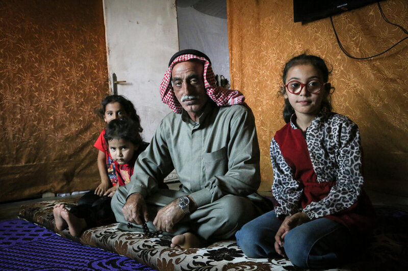
[[[104,12],[110,78],[115,73],[126,81],[118,85],[118,94],[134,103],[149,142],[170,112],[159,87],[179,50],[175,0],[104,0]]]

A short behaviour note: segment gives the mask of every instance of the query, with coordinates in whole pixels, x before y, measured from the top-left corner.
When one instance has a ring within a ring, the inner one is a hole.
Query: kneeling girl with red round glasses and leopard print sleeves
[[[249,257],[279,254],[303,268],[333,267],[370,232],[374,211],[363,191],[360,132],[331,112],[328,74],[314,55],[296,56],[285,66],[287,124],[270,146],[278,206],[236,233]]]

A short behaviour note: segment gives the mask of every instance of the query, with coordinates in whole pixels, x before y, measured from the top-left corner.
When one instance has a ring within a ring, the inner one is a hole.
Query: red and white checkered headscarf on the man
[[[189,61],[190,59],[199,59],[204,63],[203,78],[206,92],[211,100],[213,100],[217,104],[217,106],[228,106],[234,104],[242,104],[247,106],[244,102],[245,97],[242,93],[216,85],[215,75],[208,59],[194,54],[182,54],[180,56],[177,56],[169,65],[169,69],[164,74],[163,81],[160,84],[160,96],[162,98],[162,101],[163,103],[167,104],[174,113],[180,114],[183,107],[174,95],[173,88],[170,82],[171,71],[175,64],[179,62]]]

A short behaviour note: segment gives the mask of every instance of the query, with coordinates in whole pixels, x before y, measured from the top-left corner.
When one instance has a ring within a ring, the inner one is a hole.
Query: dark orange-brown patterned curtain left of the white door
[[[0,2],[0,201],[96,186],[107,79],[101,0]]]

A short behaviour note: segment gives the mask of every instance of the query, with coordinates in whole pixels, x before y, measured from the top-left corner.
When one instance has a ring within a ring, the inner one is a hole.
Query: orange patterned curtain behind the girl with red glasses
[[[386,17],[408,29],[408,3],[380,2]],[[377,4],[333,16],[345,49],[353,56],[382,52],[406,35],[386,23]],[[285,63],[301,53],[315,54],[333,68],[334,111],[359,125],[367,188],[408,196],[408,40],[370,60],[347,57],[330,19],[293,22],[292,1],[227,0],[232,88],[246,96],[257,123],[261,147],[261,191],[270,190],[273,171],[269,144],[285,123],[282,85]]]

